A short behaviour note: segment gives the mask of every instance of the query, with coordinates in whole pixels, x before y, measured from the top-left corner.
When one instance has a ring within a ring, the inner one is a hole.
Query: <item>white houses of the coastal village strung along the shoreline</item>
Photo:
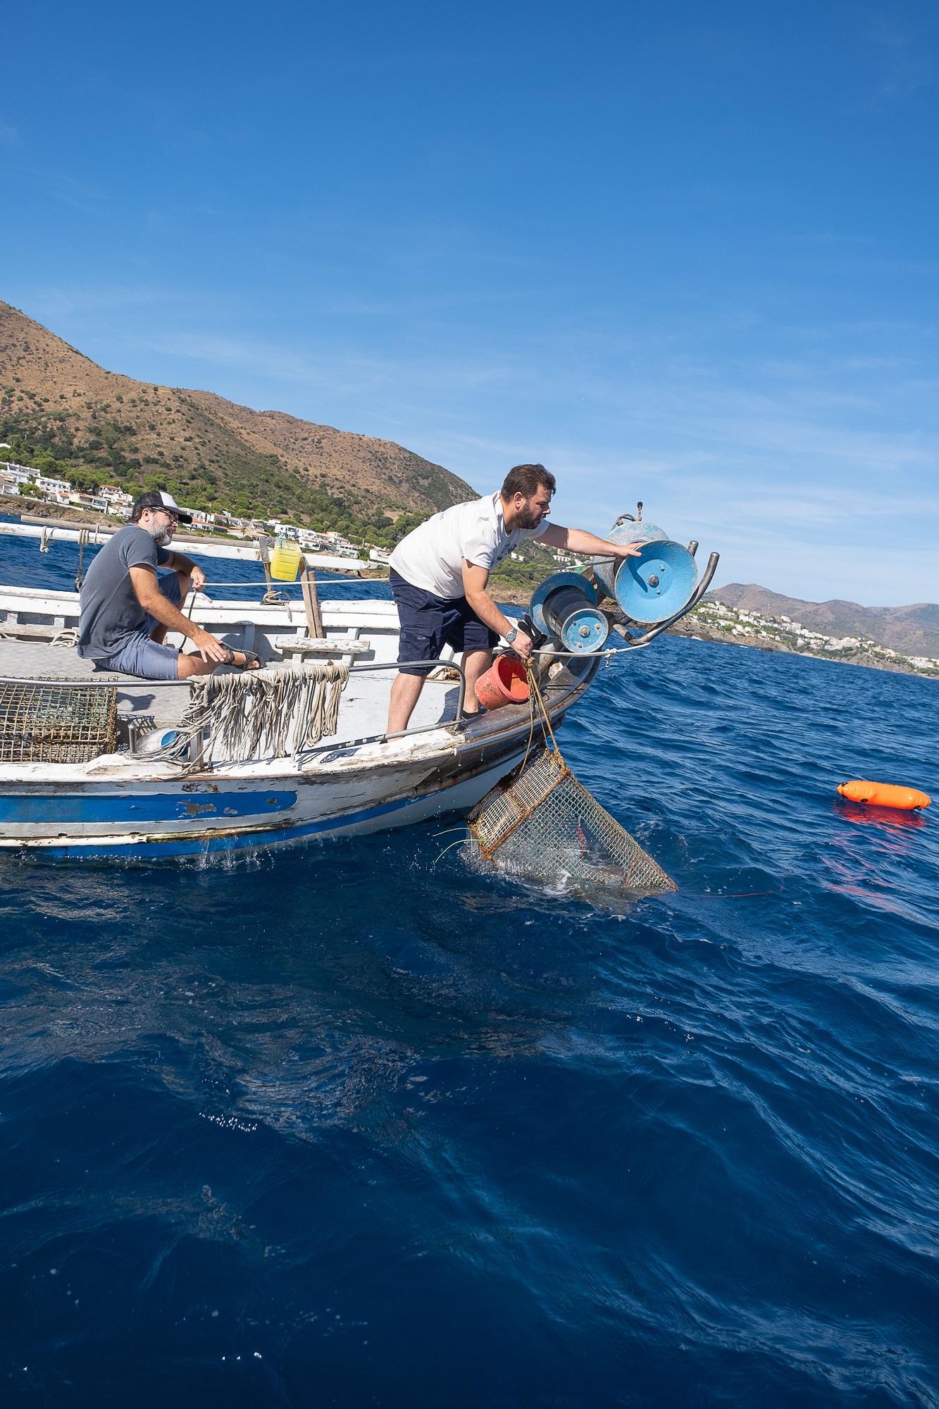
[[[0,452],[10,447],[0,444]],[[134,496],[117,485],[99,485],[94,493],[75,489],[66,479],[45,476],[31,465],[14,461],[0,461],[0,504],[3,499],[25,497],[58,504],[63,510],[107,514],[117,520],[130,519]],[[13,504],[10,506],[13,507]],[[259,534],[283,537],[297,542],[309,552],[329,551],[338,557],[357,558],[365,551],[376,569],[388,562],[388,548],[351,542],[336,531],[316,531],[278,519],[244,519],[227,510],[210,513],[202,509],[186,509],[192,514],[192,530],[206,534],[227,534],[234,538],[251,538]],[[551,551],[551,561],[578,571],[585,566],[572,554]],[[512,554],[522,564],[520,554]],[[505,597],[524,604],[526,595],[506,589]],[[729,606],[719,600],[718,593],[708,593],[694,612],[674,628],[677,635],[689,635],[705,641],[723,641],[737,645],[751,645],[763,651],[785,651],[809,655],[849,665],[867,665],[876,669],[901,671],[939,679],[939,657],[904,655],[880,641],[857,635],[826,635],[802,626],[788,616],[771,616]]]

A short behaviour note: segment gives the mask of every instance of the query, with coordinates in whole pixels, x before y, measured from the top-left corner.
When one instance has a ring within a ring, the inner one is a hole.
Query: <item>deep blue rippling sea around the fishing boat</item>
[[[0,865],[0,1402],[939,1405],[938,704],[618,658],[560,744],[681,886],[629,910],[453,820]]]

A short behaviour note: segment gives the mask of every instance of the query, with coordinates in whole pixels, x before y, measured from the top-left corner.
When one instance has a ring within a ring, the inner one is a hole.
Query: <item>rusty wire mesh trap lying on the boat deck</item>
[[[87,764],[116,748],[116,689],[0,685],[0,764]]]

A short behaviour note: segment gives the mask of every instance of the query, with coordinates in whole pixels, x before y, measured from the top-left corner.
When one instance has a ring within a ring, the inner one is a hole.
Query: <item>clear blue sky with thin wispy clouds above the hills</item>
[[[111,371],[939,600],[935,4],[39,0],[4,51],[0,297]]]

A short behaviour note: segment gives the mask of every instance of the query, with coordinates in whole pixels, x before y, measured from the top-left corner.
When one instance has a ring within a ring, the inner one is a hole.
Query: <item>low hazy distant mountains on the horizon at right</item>
[[[787,616],[814,631],[835,637],[867,637],[904,655],[939,657],[939,604],[918,602],[908,607],[861,607],[857,602],[802,602],[784,597],[756,582],[730,582],[705,593],[712,602],[763,616]]]

